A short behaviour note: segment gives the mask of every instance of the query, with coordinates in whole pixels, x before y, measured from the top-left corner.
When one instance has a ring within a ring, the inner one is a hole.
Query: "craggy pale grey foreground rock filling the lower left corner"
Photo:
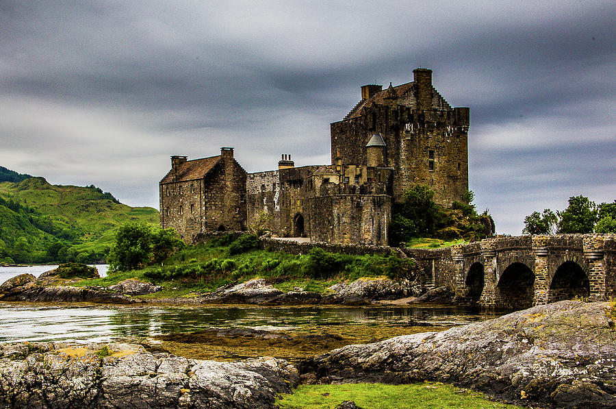
[[[191,360],[140,345],[0,345],[0,407],[272,408],[298,384],[285,360]]]

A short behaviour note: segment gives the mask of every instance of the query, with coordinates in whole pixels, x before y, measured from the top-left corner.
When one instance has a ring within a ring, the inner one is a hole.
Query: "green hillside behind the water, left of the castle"
[[[131,208],[94,185],[51,185],[43,177],[0,183],[0,261],[104,260],[129,221],[159,223],[154,208]]]

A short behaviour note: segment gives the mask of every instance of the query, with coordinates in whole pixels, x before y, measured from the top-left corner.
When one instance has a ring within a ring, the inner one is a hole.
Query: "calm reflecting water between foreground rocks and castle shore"
[[[211,327],[289,330],[337,325],[462,325],[496,317],[463,308],[388,307],[48,307],[0,303],[0,342],[107,342]]]

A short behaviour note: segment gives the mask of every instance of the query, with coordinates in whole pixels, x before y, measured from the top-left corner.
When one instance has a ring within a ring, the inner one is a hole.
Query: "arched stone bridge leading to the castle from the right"
[[[616,297],[616,234],[489,238],[405,253],[420,262],[426,284],[448,286],[484,306]]]

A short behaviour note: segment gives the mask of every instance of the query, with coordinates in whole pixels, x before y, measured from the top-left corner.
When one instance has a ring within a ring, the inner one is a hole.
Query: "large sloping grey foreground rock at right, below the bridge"
[[[561,301],[305,360],[307,383],[450,382],[525,405],[616,408],[615,312]]]

